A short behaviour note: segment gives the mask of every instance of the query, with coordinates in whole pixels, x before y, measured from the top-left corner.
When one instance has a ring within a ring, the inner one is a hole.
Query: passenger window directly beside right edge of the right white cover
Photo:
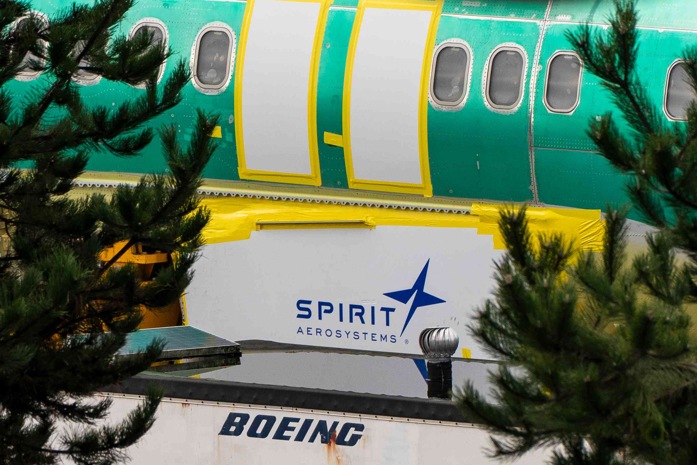
[[[431,97],[438,105],[459,105],[465,98],[470,56],[464,45],[446,43],[436,51]]]

